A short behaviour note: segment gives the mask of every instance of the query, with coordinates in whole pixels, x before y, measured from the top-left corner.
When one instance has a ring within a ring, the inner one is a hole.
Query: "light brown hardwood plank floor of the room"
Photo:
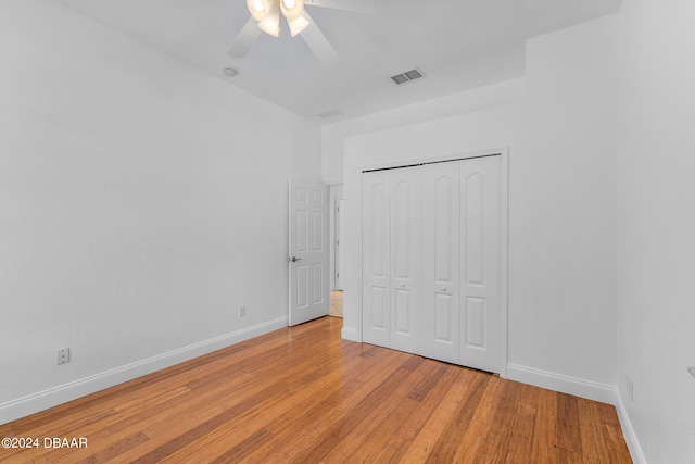
[[[612,406],[341,340],[324,317],[0,426],[11,463],[629,463]]]

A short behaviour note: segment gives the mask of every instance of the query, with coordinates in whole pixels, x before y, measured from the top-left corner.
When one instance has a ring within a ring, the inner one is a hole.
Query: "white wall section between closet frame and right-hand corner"
[[[603,401],[616,383],[615,27],[527,42],[509,161],[509,375],[582,380]]]

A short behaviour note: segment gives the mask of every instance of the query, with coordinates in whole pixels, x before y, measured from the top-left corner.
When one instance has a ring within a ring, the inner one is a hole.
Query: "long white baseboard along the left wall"
[[[182,363],[213,351],[249,340],[288,326],[288,317],[279,317],[263,324],[201,341],[178,350],[127,364],[70,384],[0,404],[0,424],[5,424],[39,411],[76,400],[134,378]]]

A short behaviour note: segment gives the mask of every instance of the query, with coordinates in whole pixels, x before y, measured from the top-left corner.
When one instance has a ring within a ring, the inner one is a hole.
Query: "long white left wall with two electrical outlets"
[[[0,57],[0,423],[286,325],[317,126],[47,0]]]

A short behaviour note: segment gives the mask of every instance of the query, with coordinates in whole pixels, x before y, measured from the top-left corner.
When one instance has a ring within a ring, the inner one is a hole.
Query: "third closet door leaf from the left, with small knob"
[[[460,358],[459,172],[457,163],[422,166],[422,354]]]

